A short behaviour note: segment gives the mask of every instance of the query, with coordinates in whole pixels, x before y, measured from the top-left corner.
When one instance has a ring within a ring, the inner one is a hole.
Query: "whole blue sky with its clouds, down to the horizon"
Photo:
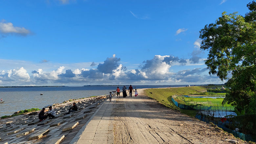
[[[248,0],[2,0],[0,86],[223,84],[199,31]]]

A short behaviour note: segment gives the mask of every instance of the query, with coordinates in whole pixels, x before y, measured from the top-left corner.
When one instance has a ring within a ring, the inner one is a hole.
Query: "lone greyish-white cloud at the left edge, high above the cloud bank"
[[[0,22],[0,32],[3,34],[14,33],[14,34],[19,34],[24,36],[31,33],[29,30],[23,27],[14,27],[12,23],[5,23],[5,22]]]

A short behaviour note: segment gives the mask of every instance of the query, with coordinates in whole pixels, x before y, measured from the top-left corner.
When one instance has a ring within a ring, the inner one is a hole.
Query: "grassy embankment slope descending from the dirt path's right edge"
[[[172,95],[188,95],[190,93],[199,93],[205,90],[206,88],[201,86],[184,87],[184,88],[167,88],[167,89],[146,89],[145,94],[159,101],[161,104],[165,105],[168,108],[171,108],[173,110],[178,110],[181,113],[194,117],[198,111],[183,110],[178,108],[172,102]]]

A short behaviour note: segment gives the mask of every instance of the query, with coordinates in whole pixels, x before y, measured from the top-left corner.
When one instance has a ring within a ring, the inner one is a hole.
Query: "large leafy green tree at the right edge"
[[[247,7],[245,16],[223,12],[200,31],[200,48],[209,51],[209,74],[228,79],[223,103],[235,106],[238,114],[256,113],[256,2]]]

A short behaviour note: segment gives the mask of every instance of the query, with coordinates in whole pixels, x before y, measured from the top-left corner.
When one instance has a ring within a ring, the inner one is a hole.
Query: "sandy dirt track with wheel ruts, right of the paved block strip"
[[[245,143],[210,124],[164,107],[142,91],[138,91],[138,97],[112,99],[115,143]]]

